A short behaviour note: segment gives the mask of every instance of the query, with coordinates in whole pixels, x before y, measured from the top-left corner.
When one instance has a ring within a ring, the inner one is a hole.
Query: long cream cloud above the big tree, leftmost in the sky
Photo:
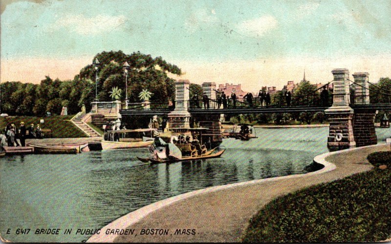
[[[92,18],[87,18],[83,15],[67,15],[57,20],[49,29],[56,30],[59,27],[65,27],[70,32],[76,32],[80,35],[97,35],[109,32],[126,21],[127,18],[123,15],[98,15]]]

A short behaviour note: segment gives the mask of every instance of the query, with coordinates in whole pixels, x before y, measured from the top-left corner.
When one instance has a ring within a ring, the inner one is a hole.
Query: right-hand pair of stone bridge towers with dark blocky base
[[[333,104],[325,110],[330,122],[327,147],[341,150],[376,144],[375,111],[350,107],[348,69],[333,69],[331,73],[334,76]],[[355,104],[369,104],[369,90],[364,88],[369,88],[369,74],[354,73],[353,77],[359,84],[355,85]]]

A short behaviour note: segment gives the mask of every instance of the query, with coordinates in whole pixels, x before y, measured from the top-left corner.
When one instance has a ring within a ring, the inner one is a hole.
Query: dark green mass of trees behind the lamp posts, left
[[[53,80],[49,76],[40,84],[22,82],[1,83],[1,112],[10,115],[42,116],[47,111],[60,114],[62,106],[68,107],[68,114],[80,111],[83,104],[90,110],[95,99],[95,81],[99,101],[111,101],[109,92],[113,87],[123,91],[121,101],[126,98],[126,76],[122,64],[130,64],[128,72],[128,97],[130,102],[139,102],[142,89],[153,93],[151,102],[174,100],[174,80],[168,73],[180,75],[181,70],[162,57],[152,58],[140,52],[130,55],[122,51],[102,52],[95,55],[100,65],[95,71],[92,64],[83,67],[73,80]],[[92,60],[94,60],[92,59]],[[202,89],[201,89],[202,90]]]

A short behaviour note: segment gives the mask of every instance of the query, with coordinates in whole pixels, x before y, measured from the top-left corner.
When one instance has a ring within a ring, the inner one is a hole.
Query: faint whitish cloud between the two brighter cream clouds
[[[200,9],[195,11],[185,21],[185,28],[189,32],[195,32],[198,28],[203,25],[212,25],[218,22],[218,18],[215,16],[215,10]]]

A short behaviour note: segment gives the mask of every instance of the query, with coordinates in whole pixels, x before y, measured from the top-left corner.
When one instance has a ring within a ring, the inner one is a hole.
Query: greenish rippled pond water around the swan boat
[[[376,129],[379,142],[389,129]],[[222,158],[149,165],[148,149],[0,159],[0,233],[13,242],[81,242],[77,228],[98,229],[130,211],[214,185],[300,174],[327,152],[328,128],[257,128],[258,139],[224,139]],[[10,234],[6,234],[8,228]],[[17,228],[31,228],[26,235]],[[60,235],[35,235],[61,228]],[[64,235],[65,228],[72,228]]]

